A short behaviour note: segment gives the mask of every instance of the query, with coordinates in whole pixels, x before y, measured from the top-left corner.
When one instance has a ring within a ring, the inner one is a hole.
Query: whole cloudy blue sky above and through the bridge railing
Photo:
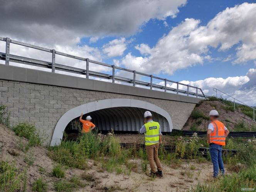
[[[1,37],[198,86],[207,95],[217,88],[256,106],[255,0],[0,3]],[[4,42],[0,52],[5,52]],[[19,45],[11,45],[10,53],[51,61],[51,54]],[[62,56],[56,56],[56,63],[85,67]],[[111,74],[98,65],[90,70]],[[132,77],[121,71],[117,75]]]

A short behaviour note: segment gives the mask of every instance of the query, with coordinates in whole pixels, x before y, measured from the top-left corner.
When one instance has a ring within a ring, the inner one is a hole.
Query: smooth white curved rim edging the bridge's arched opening
[[[86,114],[92,111],[97,111],[99,109],[106,109],[111,107],[137,107],[147,109],[149,111],[154,111],[155,113],[158,113],[167,119],[170,131],[172,131],[173,126],[170,115],[167,113],[167,111],[152,103],[136,99],[104,99],[82,104],[64,113],[54,128],[50,145],[56,146],[61,144],[62,136],[67,124],[74,118],[80,116],[81,113]]]

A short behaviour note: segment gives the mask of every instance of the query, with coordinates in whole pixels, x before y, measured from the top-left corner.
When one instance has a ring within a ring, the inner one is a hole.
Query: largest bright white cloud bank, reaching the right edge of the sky
[[[148,73],[168,73],[203,64],[209,59],[209,47],[226,51],[238,45],[235,63],[256,59],[256,3],[243,3],[226,8],[207,25],[200,20],[185,19],[150,49],[145,44],[136,45],[145,57],[127,54],[120,62],[127,68],[141,69],[147,66]],[[147,48],[147,49],[145,49]],[[205,57],[206,55],[206,57]],[[230,59],[227,57],[227,59]],[[135,60],[135,61],[132,61]]]

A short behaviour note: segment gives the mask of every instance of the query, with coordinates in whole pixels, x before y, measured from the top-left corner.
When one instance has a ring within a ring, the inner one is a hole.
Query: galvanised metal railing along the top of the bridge
[[[27,43],[24,43],[24,42],[19,42],[17,40],[10,39],[9,37],[6,37],[6,38],[5,37],[0,37],[0,40],[6,42],[5,53],[0,52],[0,60],[5,60],[6,65],[9,65],[9,62],[16,62],[16,63],[21,63],[21,64],[27,64],[27,65],[52,69],[53,73],[55,72],[55,70],[64,71],[64,72],[72,72],[72,73],[76,73],[76,74],[82,74],[87,79],[89,78],[89,76],[99,77],[99,78],[103,78],[103,79],[111,79],[112,83],[115,83],[115,81],[121,81],[121,82],[133,84],[133,86],[136,86],[136,85],[146,86],[146,87],[150,87],[150,89],[162,89],[162,90],[164,90],[164,92],[171,91],[171,92],[176,93],[176,94],[185,94],[187,96],[195,96],[197,98],[198,97],[205,98],[205,95],[204,95],[201,88],[191,86],[189,84],[183,84],[183,83],[179,83],[179,82],[172,81],[172,80],[169,80],[169,79],[164,79],[164,78],[161,78],[161,77],[157,77],[157,76],[145,74],[145,73],[142,73],[142,72],[138,72],[138,71],[135,71],[135,70],[125,69],[125,68],[120,67],[120,66],[109,65],[109,64],[106,64],[106,63],[103,63],[103,62],[93,61],[93,60],[88,59],[88,58],[83,58],[83,57],[78,57],[78,56],[74,56],[74,55],[71,55],[71,54],[66,54],[66,53],[63,53],[63,52],[56,51],[54,49],[47,49],[47,48],[44,48],[44,47],[39,47],[39,46],[36,46],[36,45],[31,45],[31,44],[27,44]],[[17,44],[17,45],[22,45],[22,46],[25,46],[25,47],[30,47],[30,48],[37,49],[37,50],[40,50],[40,51],[50,52],[50,53],[52,53],[52,62],[47,62],[47,61],[42,61],[42,60],[37,60],[37,59],[12,55],[12,54],[10,54],[10,44],[11,43],[12,44]],[[78,60],[84,61],[86,69],[81,69],[81,68],[77,68],[77,67],[57,64],[55,62],[55,56],[56,55],[61,55],[61,56],[70,57],[70,58],[73,58],[73,59],[78,59]],[[98,65],[101,65],[101,66],[111,67],[112,68],[112,74],[110,75],[110,74],[105,74],[105,73],[102,73],[102,72],[90,71],[89,70],[89,63],[94,63],[94,64],[98,64]],[[117,76],[116,73],[115,73],[116,69],[120,69],[121,71],[127,71],[127,72],[133,73],[133,79]],[[150,77],[150,83],[145,82],[145,81],[136,80],[136,75]],[[153,79],[162,80],[162,81],[164,81],[165,85],[162,86],[160,84],[155,84],[155,83],[153,83]],[[167,83],[174,83],[174,84],[177,84],[177,86],[175,86],[176,88],[172,88],[172,87],[167,86]],[[185,90],[180,89],[179,85],[180,86],[185,86],[186,87]],[[193,88],[194,92],[191,91],[190,88]],[[199,91],[200,91],[200,93],[199,93]]]

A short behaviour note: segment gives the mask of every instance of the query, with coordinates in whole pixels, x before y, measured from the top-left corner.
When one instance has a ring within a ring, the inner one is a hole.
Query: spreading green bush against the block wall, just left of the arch
[[[43,139],[39,136],[34,125],[29,123],[19,123],[18,125],[13,126],[12,130],[16,135],[27,138],[29,140],[29,147],[42,144]]]

